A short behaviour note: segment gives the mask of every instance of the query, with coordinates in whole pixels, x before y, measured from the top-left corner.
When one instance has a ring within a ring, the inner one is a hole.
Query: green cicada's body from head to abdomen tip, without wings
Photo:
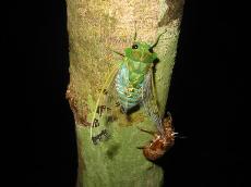
[[[144,99],[145,77],[156,59],[148,48],[151,46],[138,42],[125,49],[123,63],[116,77],[118,100],[125,113]]]

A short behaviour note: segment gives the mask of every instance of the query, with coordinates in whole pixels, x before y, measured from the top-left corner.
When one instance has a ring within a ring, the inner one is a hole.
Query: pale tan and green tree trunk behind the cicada
[[[111,50],[123,52],[136,40],[153,43],[167,29],[155,51],[155,83],[164,115],[177,50],[183,0],[67,0],[70,40],[70,84],[67,91],[74,113],[79,150],[77,187],[144,186],[163,182],[163,170],[147,161],[142,147],[153,138],[136,126],[156,130],[139,110],[131,121],[112,126],[109,144],[94,146],[89,138],[97,96],[112,65],[121,60]]]

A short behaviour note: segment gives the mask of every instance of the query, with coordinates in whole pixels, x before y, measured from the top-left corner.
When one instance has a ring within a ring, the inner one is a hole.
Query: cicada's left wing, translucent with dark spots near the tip
[[[116,75],[119,66],[115,66],[106,78],[93,111],[91,139],[94,145],[109,138],[109,123],[112,122],[112,110],[117,102]]]

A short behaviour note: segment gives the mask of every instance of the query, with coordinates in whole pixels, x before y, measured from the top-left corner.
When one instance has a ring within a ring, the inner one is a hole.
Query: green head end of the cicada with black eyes
[[[153,63],[157,59],[153,47],[146,42],[134,42],[131,48],[124,50],[125,57],[138,62]]]

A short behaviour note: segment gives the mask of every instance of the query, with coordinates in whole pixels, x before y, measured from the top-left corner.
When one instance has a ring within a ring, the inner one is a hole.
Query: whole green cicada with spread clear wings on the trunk
[[[112,110],[116,107],[124,114],[136,107],[143,107],[156,123],[158,132],[164,134],[153,78],[153,67],[158,60],[154,48],[163,34],[154,45],[138,42],[134,37],[133,45],[124,49],[124,54],[116,52],[122,57],[122,61],[108,75],[96,102],[91,126],[94,145],[108,138],[107,124],[112,121]]]

